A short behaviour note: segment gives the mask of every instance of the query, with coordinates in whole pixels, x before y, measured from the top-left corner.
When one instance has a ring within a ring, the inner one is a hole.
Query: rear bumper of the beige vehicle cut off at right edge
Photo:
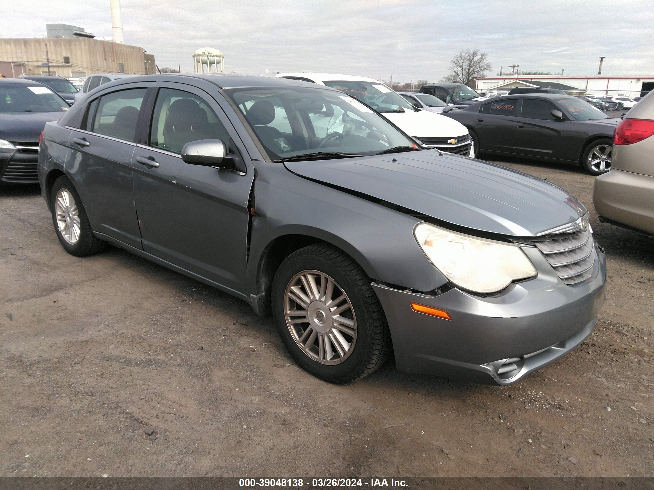
[[[595,178],[593,204],[600,221],[654,235],[654,176],[613,169]]]

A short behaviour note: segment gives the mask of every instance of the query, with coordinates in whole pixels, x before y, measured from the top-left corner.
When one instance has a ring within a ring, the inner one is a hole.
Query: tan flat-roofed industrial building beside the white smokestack
[[[44,38],[0,38],[0,74],[156,73],[154,55],[139,46],[95,39],[75,25],[46,24],[46,32]]]

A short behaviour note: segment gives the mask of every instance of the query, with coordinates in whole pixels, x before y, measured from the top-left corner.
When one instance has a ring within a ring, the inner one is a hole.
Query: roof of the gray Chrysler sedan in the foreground
[[[135,82],[147,82],[156,80],[165,80],[168,82],[188,83],[189,78],[196,80],[206,80],[218,88],[261,88],[261,87],[306,87],[305,82],[297,80],[288,80],[287,78],[275,78],[274,76],[248,76],[235,74],[208,74],[208,73],[158,73],[152,75],[133,75],[122,80],[114,80],[111,86],[120,84],[133,84]],[[108,87],[109,84],[100,87]],[[332,90],[324,86],[315,86],[321,90]]]

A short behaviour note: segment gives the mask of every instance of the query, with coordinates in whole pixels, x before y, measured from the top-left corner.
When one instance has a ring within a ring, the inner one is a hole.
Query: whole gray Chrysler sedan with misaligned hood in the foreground
[[[108,242],[243,299],[330,382],[392,348],[406,372],[510,384],[583,342],[604,301],[577,199],[421,150],[330,88],[133,77],[48,123],[41,149],[65,250]]]

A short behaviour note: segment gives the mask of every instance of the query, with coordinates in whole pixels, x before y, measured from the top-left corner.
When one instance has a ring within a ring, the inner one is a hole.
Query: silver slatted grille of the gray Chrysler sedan
[[[559,233],[529,240],[565,284],[577,284],[591,277],[595,263],[595,247],[590,227],[574,233]]]

